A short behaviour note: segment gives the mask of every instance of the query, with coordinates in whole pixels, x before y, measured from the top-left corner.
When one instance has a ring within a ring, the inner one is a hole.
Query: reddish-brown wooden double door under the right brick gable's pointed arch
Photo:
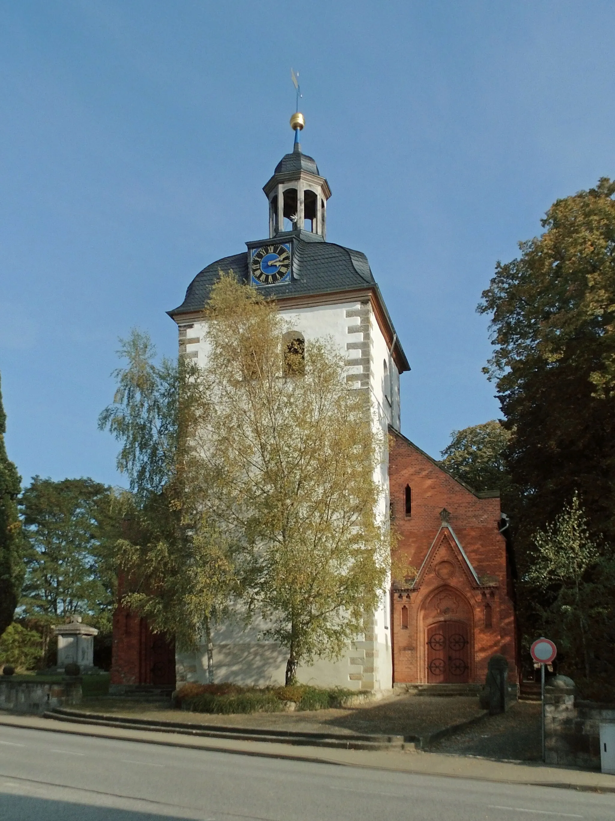
[[[437,621],[427,628],[429,684],[466,684],[470,679],[470,640],[465,621]]]

